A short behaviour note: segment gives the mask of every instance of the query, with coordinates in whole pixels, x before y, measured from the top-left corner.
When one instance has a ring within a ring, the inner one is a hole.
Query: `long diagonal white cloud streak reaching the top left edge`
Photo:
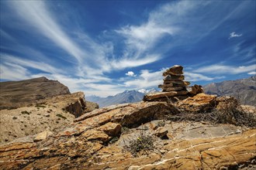
[[[81,62],[81,59],[85,57],[78,45],[67,36],[54,20],[43,1],[11,1],[9,3],[22,19],[36,27],[36,30],[71,54],[78,62]]]

